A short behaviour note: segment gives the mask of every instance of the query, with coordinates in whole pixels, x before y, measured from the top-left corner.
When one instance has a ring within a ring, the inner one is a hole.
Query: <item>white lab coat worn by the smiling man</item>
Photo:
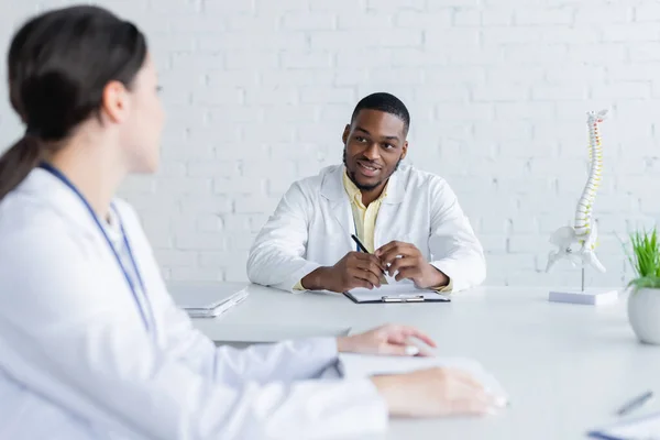
[[[293,288],[307,274],[356,250],[344,169],[329,166],[288,189],[250,251],[250,280],[297,292]],[[389,178],[376,218],[376,249],[393,240],[415,244],[452,279],[453,292],[481,284],[486,276],[483,248],[455,194],[444,179],[407,165]]]

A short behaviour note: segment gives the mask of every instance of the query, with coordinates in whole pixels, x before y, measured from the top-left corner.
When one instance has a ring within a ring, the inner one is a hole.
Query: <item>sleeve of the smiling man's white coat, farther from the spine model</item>
[[[294,290],[296,284],[320,266],[305,260],[311,209],[300,184],[292,185],[250,250],[248,277],[252,283],[299,292]]]

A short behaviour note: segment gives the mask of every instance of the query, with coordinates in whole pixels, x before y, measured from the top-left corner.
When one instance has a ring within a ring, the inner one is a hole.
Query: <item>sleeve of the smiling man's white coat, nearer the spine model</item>
[[[486,277],[481,242],[449,184],[436,177],[430,188],[431,265],[451,278],[452,292],[480,285]]]

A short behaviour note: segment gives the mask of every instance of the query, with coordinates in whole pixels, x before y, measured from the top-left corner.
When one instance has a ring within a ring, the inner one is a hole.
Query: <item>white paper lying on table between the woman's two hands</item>
[[[402,374],[435,366],[452,367],[470,373],[495,397],[508,402],[502,384],[479,362],[466,358],[440,356],[383,356],[355,353],[340,353],[338,370],[346,378],[369,377],[381,374]]]

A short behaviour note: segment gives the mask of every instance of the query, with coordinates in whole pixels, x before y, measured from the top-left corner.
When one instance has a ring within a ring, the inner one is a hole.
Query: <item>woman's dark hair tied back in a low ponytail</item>
[[[98,111],[109,81],[130,87],[146,57],[146,40],[105,9],[46,12],[14,35],[8,55],[11,106],[25,135],[0,157],[0,200],[76,127]]]

